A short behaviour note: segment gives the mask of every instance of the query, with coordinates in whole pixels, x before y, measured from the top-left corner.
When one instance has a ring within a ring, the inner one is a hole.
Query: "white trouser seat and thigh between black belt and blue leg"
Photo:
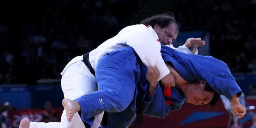
[[[68,68],[62,72],[61,79],[64,98],[74,100],[98,90],[95,77],[90,73],[84,62],[77,61],[67,66]]]

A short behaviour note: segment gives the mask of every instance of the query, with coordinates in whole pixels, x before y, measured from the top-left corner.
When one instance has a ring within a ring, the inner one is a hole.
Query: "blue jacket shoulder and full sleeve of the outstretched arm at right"
[[[162,45],[162,56],[186,81],[205,80],[221,95],[229,100],[234,95],[242,94],[240,87],[232,76],[228,66],[212,57],[194,54],[184,54]]]

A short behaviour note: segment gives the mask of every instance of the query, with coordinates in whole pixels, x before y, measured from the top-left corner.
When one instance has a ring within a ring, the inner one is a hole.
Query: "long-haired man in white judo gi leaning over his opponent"
[[[158,81],[161,80],[166,86],[174,86],[174,78],[170,74],[170,70],[168,70],[160,53],[161,44],[169,45],[173,48],[172,41],[178,35],[178,27],[174,17],[168,14],[160,14],[145,19],[142,23],[122,29],[115,37],[108,39],[92,50],[88,54],[88,60],[83,60],[83,56],[73,58],[61,73],[64,97],[74,100],[82,95],[98,90],[95,77],[91,74],[89,68],[95,70],[98,60],[102,56],[110,51],[126,46],[134,48],[146,66],[156,66],[158,68],[160,72]],[[201,41],[200,38],[190,38],[183,46],[178,47],[176,50],[197,54],[197,47],[204,44],[204,41]],[[88,68],[83,61],[89,61],[91,67]],[[98,128],[102,116],[103,113],[92,118],[94,120],[92,128]],[[74,128],[74,125],[84,128],[78,113],[74,115],[72,122],[68,122],[65,110],[62,113],[61,123],[30,122],[30,125],[28,125],[28,122],[26,119],[22,120],[20,128],[27,128],[28,126],[29,128]]]

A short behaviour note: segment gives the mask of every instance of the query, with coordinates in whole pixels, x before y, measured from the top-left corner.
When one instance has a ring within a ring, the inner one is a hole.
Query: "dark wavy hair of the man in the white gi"
[[[161,28],[165,28],[171,23],[174,23],[176,25],[176,29],[178,31],[178,25],[176,23],[173,13],[171,12],[165,14],[157,14],[140,21],[140,24],[144,24],[146,26],[150,25],[153,29],[154,25],[156,24],[159,25]]]

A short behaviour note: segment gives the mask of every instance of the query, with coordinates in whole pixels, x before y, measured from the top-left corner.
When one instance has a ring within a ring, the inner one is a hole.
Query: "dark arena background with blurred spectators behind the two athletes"
[[[0,1],[0,109],[12,105],[9,118],[16,127],[23,117],[40,121],[37,109],[43,110],[46,101],[61,113],[60,72],[72,58],[128,25],[166,12],[176,18],[178,37],[196,31],[210,34],[209,55],[226,62],[249,101],[246,106],[255,105],[256,0],[4,0]],[[228,111],[220,101],[212,111],[202,107],[196,106],[198,114],[185,103],[164,119],[144,118],[144,126],[226,128]],[[209,116],[216,113],[221,114]],[[253,113],[247,112],[244,126],[256,125],[250,121],[256,117]],[[206,115],[206,120],[194,120]],[[180,125],[188,118],[194,122]]]

